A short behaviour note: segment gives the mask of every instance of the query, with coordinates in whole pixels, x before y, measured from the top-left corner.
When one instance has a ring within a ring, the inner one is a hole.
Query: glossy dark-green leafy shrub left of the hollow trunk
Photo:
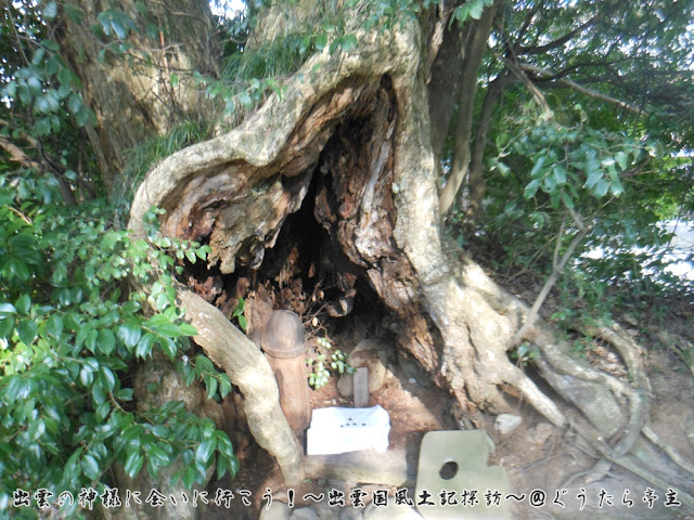
[[[129,370],[138,360],[176,360],[210,399],[229,378],[196,355],[195,329],[177,309],[176,258],[204,260],[207,246],[157,233],[132,238],[108,224],[103,202],[66,210],[42,204],[22,178],[0,177],[0,504],[17,487],[60,493],[110,482],[119,460],[152,476],[177,458],[187,486],[239,468],[226,433],[170,402],[136,413]],[[142,289],[146,287],[147,289]],[[4,508],[2,508],[4,509]]]

